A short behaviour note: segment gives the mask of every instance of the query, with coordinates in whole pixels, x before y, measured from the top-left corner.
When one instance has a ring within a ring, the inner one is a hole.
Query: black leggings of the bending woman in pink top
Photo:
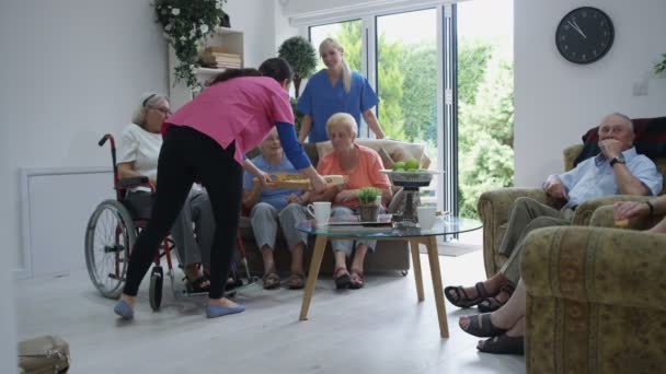
[[[215,217],[210,250],[210,299],[220,299],[233,258],[241,211],[242,166],[233,160],[236,144],[222,147],[190,127],[166,130],[158,160],[158,189],[151,218],[131,249],[123,292],[136,296],[160,243],[169,233],[195,180],[206,187]]]

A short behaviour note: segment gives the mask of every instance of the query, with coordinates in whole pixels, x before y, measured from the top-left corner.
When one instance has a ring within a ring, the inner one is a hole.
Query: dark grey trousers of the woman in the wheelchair
[[[127,192],[126,199],[137,210],[139,217],[150,217],[152,199],[149,192]],[[214,233],[215,219],[208,194],[193,188],[185,200],[183,210],[171,227],[179,262],[183,265],[204,264],[204,267],[210,268]]]

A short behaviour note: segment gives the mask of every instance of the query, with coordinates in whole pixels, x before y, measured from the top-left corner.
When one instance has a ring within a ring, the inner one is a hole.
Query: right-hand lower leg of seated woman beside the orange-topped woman
[[[291,250],[291,276],[287,281],[287,287],[291,290],[299,290],[306,285],[303,252],[308,244],[308,235],[298,231],[296,226],[307,220],[306,208],[292,202],[279,212],[278,218],[287,246]]]

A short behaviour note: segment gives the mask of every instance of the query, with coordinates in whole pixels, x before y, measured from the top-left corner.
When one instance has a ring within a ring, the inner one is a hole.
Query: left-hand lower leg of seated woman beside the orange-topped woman
[[[275,268],[273,250],[275,249],[275,238],[277,235],[278,212],[272,204],[260,202],[250,213],[250,222],[254,232],[256,246],[262,252],[264,259],[264,289],[274,290],[279,287],[280,279]]]

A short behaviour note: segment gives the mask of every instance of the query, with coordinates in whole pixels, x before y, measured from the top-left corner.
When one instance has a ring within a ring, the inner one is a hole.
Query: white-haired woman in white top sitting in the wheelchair
[[[153,186],[158,186],[158,156],[162,148],[160,131],[162,122],[170,114],[169,100],[165,96],[152,92],[141,96],[131,116],[131,124],[123,129],[118,143],[117,167],[122,179],[147,176]],[[152,194],[149,187],[134,187],[127,191],[125,199],[136,218],[150,218]],[[196,239],[192,230],[193,223]],[[199,264],[204,264],[206,269],[210,266],[214,232],[215,220],[208,195],[195,185],[171,229],[190,292],[208,291],[210,281],[199,269]]]

